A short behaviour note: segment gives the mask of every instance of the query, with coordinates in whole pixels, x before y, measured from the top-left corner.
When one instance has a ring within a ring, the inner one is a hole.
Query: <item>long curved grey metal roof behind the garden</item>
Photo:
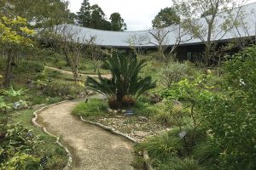
[[[225,14],[218,14],[216,18],[216,28],[215,32],[212,33],[213,40],[228,40],[235,37],[247,37],[255,36],[256,29],[256,3],[250,3],[241,7],[245,11],[245,16],[243,18],[244,23],[246,23],[247,28],[244,26],[239,26],[237,29],[233,28],[224,34],[221,30],[221,23],[224,22],[223,16]],[[238,8],[233,11],[234,16],[236,15]],[[222,17],[220,17],[220,15]],[[201,23],[201,29],[204,29],[207,24],[206,20],[201,18],[197,20]],[[63,26],[63,25],[62,25]],[[113,47],[113,48],[128,48],[134,45],[136,47],[155,47],[157,44],[155,38],[149,32],[158,32],[160,30],[149,30],[149,31],[102,31],[91,28],[86,28],[82,26],[65,25],[73,32],[73,35],[79,40],[89,39],[90,37],[96,37],[95,43],[102,47]],[[177,40],[177,28],[178,26],[169,26],[161,31],[164,33],[170,31],[165,38],[165,45],[172,46]],[[173,31],[176,30],[176,31]],[[239,31],[239,34],[238,34]],[[205,38],[204,38],[205,39]],[[185,35],[182,37],[182,42],[180,44],[186,45],[191,43],[201,43],[201,39],[191,38],[190,35]]]

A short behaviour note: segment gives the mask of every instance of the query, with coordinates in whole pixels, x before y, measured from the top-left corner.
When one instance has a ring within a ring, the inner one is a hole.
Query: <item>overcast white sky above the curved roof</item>
[[[69,2],[71,12],[76,13],[83,0],[69,0]],[[256,0],[248,0],[248,3],[254,2]],[[89,0],[89,3],[90,5],[97,3],[108,18],[110,14],[119,12],[127,24],[127,31],[150,29],[151,21],[160,9],[172,6],[172,0]]]

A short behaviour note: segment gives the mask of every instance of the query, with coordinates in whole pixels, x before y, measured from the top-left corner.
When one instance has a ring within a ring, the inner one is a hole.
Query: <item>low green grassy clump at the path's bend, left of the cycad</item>
[[[72,112],[75,115],[93,118],[104,115],[107,108],[107,103],[102,99],[89,99],[87,102],[77,105]]]

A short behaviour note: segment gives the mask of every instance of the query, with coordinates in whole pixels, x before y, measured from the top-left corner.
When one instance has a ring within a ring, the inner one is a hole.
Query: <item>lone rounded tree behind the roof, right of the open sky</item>
[[[152,20],[152,26],[154,28],[163,28],[178,24],[180,17],[176,14],[174,8],[162,8],[160,12]]]

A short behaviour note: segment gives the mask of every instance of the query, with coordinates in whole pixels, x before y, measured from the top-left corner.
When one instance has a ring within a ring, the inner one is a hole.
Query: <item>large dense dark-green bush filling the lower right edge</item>
[[[224,95],[214,95],[203,104],[204,126],[219,148],[226,169],[254,169],[256,48],[247,48],[224,63]]]

